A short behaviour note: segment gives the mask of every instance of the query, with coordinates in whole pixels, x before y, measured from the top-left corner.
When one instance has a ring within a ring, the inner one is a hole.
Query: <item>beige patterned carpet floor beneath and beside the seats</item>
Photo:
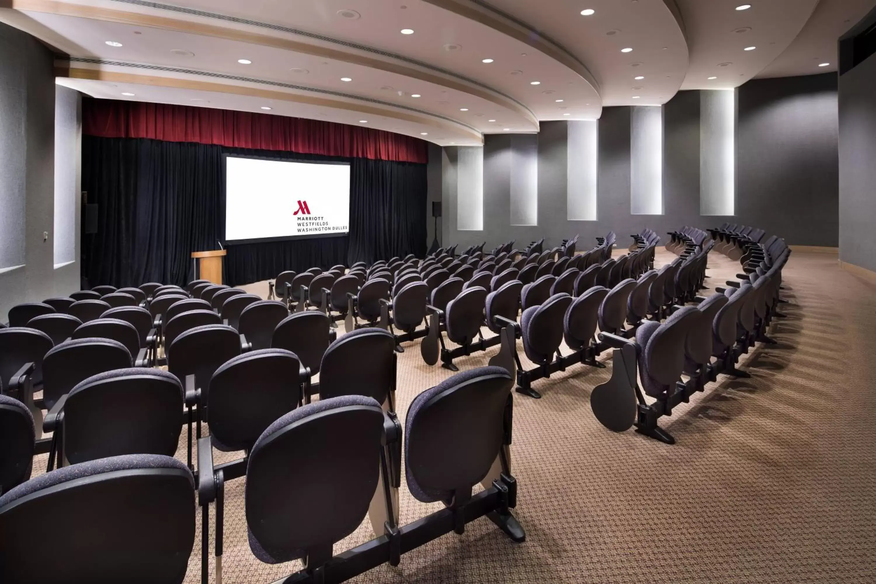
[[[658,264],[673,257],[660,250]],[[737,271],[713,253],[707,285]],[[720,378],[662,419],[675,446],[597,422],[590,391],[611,365],[537,382],[544,398],[514,395],[516,514],[526,542],[513,544],[482,519],[356,581],[874,581],[876,285],[841,271],[831,253],[795,252],[784,273],[788,318],[771,333],[779,344],[743,357],[751,379]],[[264,284],[251,288],[266,293]],[[481,366],[497,351],[457,364]],[[452,374],[423,363],[417,343],[399,357],[404,419],[420,391]],[[243,496],[244,479],[226,484],[223,580],[263,584],[299,569],[252,555]],[[402,524],[440,506],[417,502],[404,482],[400,502]],[[198,525],[192,583],[201,578],[200,515]],[[335,552],[371,537],[366,521]]]

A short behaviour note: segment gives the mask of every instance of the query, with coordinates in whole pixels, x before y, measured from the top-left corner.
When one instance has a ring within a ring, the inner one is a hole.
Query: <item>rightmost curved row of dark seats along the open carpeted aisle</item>
[[[713,233],[725,234],[725,226]],[[601,332],[600,341],[615,348],[612,376],[590,396],[593,412],[604,426],[616,432],[636,426],[637,432],[668,444],[675,439],[658,426],[662,416],[689,402],[718,375],[750,376],[737,369],[739,357],[756,343],[774,343],[767,331],[773,318],[782,316],[778,311],[783,302],[781,270],[790,253],[778,237],[761,244],[745,236],[718,240],[699,229],[682,229],[673,234],[673,241],[669,249],[682,255],[682,266],[702,261],[703,269],[706,255],[718,241],[738,242],[722,250],[743,251],[738,257],[744,273],[708,298],[678,299],[666,320],[643,323],[634,337]],[[654,401],[648,403],[646,395]]]

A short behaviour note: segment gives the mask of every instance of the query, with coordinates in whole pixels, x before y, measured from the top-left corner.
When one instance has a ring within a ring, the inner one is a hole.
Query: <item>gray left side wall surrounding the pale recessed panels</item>
[[[77,110],[67,109],[67,115]],[[0,157],[0,175],[13,185],[4,196],[25,203],[25,265],[0,273],[0,320],[20,302],[79,289],[78,261],[54,269],[54,120],[53,54],[24,32],[0,24],[0,144],[16,144],[19,153]]]

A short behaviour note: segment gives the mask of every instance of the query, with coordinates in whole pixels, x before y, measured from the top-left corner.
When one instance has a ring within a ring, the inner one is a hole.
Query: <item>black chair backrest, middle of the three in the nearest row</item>
[[[297,408],[265,430],[250,454],[244,502],[258,559],[330,556],[356,531],[378,487],[384,419],[374,399],[351,395]],[[318,478],[302,480],[302,469]]]

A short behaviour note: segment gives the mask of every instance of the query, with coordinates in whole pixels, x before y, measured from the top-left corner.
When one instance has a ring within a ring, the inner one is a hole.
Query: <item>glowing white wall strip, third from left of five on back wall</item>
[[[569,122],[567,151],[566,218],[597,221],[599,122]]]

